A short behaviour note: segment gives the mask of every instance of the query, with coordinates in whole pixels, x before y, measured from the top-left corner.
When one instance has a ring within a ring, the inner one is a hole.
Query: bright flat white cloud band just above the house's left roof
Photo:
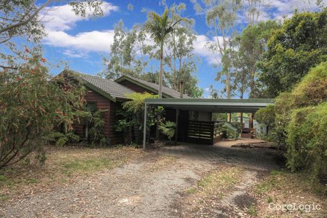
[[[113,43],[113,35],[113,30],[82,32],[75,36],[64,31],[48,31],[44,43],[83,52],[109,52],[110,45]]]

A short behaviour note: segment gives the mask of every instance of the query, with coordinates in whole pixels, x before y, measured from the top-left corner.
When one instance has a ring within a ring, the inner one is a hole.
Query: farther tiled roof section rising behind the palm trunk
[[[149,81],[145,81],[143,79],[136,79],[134,77],[129,77],[127,75],[123,75],[122,77],[119,77],[115,81],[120,82],[125,79],[127,79],[131,82],[134,82],[136,84],[141,84],[141,86],[143,86],[144,88],[150,89],[152,91],[156,91],[156,92],[159,91],[158,84],[153,84]],[[170,97],[170,98],[180,98],[180,92],[177,92],[177,91],[175,91],[171,88],[165,87],[165,86],[162,87],[162,93],[163,93],[163,95],[168,95],[168,97]],[[183,95],[183,98],[190,98],[190,97],[188,95]]]

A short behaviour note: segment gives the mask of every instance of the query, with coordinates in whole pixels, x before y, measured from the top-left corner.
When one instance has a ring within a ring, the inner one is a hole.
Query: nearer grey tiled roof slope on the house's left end
[[[134,93],[133,90],[118,84],[115,81],[110,79],[104,79],[102,77],[97,77],[93,75],[86,75],[80,72],[74,72],[76,75],[79,75],[83,81],[86,81],[88,84],[99,88],[100,90],[104,91],[105,93],[111,95],[113,98],[121,98],[121,99],[128,99],[126,97],[127,94]],[[87,84],[86,84],[87,85]]]

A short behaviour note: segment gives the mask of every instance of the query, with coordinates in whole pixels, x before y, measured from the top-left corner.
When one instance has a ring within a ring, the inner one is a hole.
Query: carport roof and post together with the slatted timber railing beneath
[[[223,128],[239,137],[236,128],[227,122],[215,122],[212,120],[191,120],[189,111],[199,113],[255,113],[258,109],[273,104],[271,99],[188,99],[188,98],[165,98],[145,99],[145,116],[143,132],[143,148],[146,146],[146,120],[147,106],[161,106],[175,113],[175,142],[189,141],[196,143],[214,144],[223,137]]]

